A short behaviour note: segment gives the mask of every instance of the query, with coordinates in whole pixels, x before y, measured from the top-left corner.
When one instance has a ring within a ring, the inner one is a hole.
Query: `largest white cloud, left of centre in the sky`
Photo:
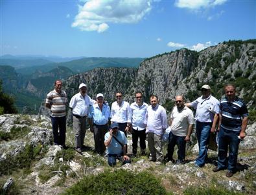
[[[152,9],[152,0],[88,0],[78,6],[72,27],[84,31],[104,32],[110,23],[137,23]]]

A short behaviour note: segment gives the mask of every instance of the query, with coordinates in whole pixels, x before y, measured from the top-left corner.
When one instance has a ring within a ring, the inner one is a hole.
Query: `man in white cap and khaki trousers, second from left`
[[[87,94],[87,86],[84,83],[79,85],[79,92],[71,98],[69,107],[73,114],[73,130],[75,132],[75,150],[78,153],[82,152],[84,137],[86,136],[86,118],[89,111],[89,106],[93,105],[94,101]]]

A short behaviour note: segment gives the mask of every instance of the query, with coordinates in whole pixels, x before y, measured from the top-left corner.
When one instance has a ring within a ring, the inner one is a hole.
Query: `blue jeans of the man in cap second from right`
[[[196,158],[196,165],[203,167],[207,159],[208,144],[213,123],[201,123],[196,121],[196,137],[198,140],[199,154]]]

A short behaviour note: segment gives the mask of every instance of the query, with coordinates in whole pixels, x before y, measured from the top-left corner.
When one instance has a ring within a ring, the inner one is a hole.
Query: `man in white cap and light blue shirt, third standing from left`
[[[108,125],[110,125],[110,107],[104,103],[103,94],[97,94],[97,104],[90,107],[89,110],[89,125],[93,130],[95,141],[95,152],[102,155],[106,147],[104,145],[104,136],[108,132]]]

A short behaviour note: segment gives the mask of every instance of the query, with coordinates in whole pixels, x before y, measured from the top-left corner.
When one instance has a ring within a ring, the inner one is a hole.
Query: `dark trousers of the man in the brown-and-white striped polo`
[[[52,117],[52,134],[53,134],[53,142],[55,145],[65,146],[65,116],[63,117]]]

